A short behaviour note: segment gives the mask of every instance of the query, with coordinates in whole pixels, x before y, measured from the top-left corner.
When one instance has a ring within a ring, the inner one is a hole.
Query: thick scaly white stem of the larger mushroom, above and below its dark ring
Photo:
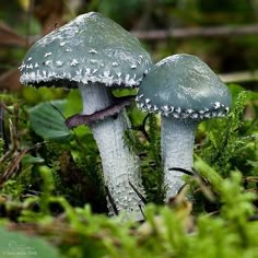
[[[83,98],[83,114],[91,115],[112,105],[109,90],[102,84],[79,84]],[[125,131],[130,127],[125,109],[117,117],[107,117],[91,126],[94,139],[102,157],[104,183],[114,199],[117,210],[125,211],[127,216],[142,220],[139,206],[143,207],[140,197],[129,181],[143,192],[140,177],[139,159],[125,143]],[[109,213],[114,214],[110,203]]]

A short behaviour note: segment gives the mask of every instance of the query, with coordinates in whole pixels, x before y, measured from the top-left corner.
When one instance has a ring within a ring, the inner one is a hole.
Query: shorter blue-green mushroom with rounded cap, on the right
[[[198,57],[169,56],[156,63],[140,85],[141,109],[160,113],[166,200],[184,185],[183,168],[194,165],[195,130],[199,122],[225,116],[232,104],[226,85]]]

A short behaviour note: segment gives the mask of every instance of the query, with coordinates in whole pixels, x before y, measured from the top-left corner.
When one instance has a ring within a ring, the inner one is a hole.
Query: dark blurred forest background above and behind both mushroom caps
[[[16,68],[33,42],[90,11],[136,33],[154,61],[188,52],[219,73],[258,67],[258,0],[1,0],[0,90],[20,91]],[[257,89],[247,77],[241,83]]]

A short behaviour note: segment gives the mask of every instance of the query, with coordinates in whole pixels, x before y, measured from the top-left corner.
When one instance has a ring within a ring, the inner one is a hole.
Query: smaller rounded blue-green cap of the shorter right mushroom
[[[140,108],[174,118],[225,116],[232,105],[227,86],[198,57],[169,56],[143,79],[137,97]]]

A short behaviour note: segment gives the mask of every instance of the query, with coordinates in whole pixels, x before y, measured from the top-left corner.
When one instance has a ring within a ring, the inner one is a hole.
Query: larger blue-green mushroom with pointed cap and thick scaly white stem
[[[142,200],[133,187],[144,191],[139,159],[124,141],[130,124],[125,108],[118,108],[116,116],[112,116],[116,112],[105,110],[117,104],[112,89],[138,86],[152,66],[150,55],[134,36],[101,13],[90,12],[36,42],[20,67],[21,83],[79,86],[82,115],[103,113],[90,127],[102,157],[104,183],[116,209],[136,220],[142,218]],[[77,126],[79,116],[71,118]],[[115,212],[110,203],[108,209]]]

